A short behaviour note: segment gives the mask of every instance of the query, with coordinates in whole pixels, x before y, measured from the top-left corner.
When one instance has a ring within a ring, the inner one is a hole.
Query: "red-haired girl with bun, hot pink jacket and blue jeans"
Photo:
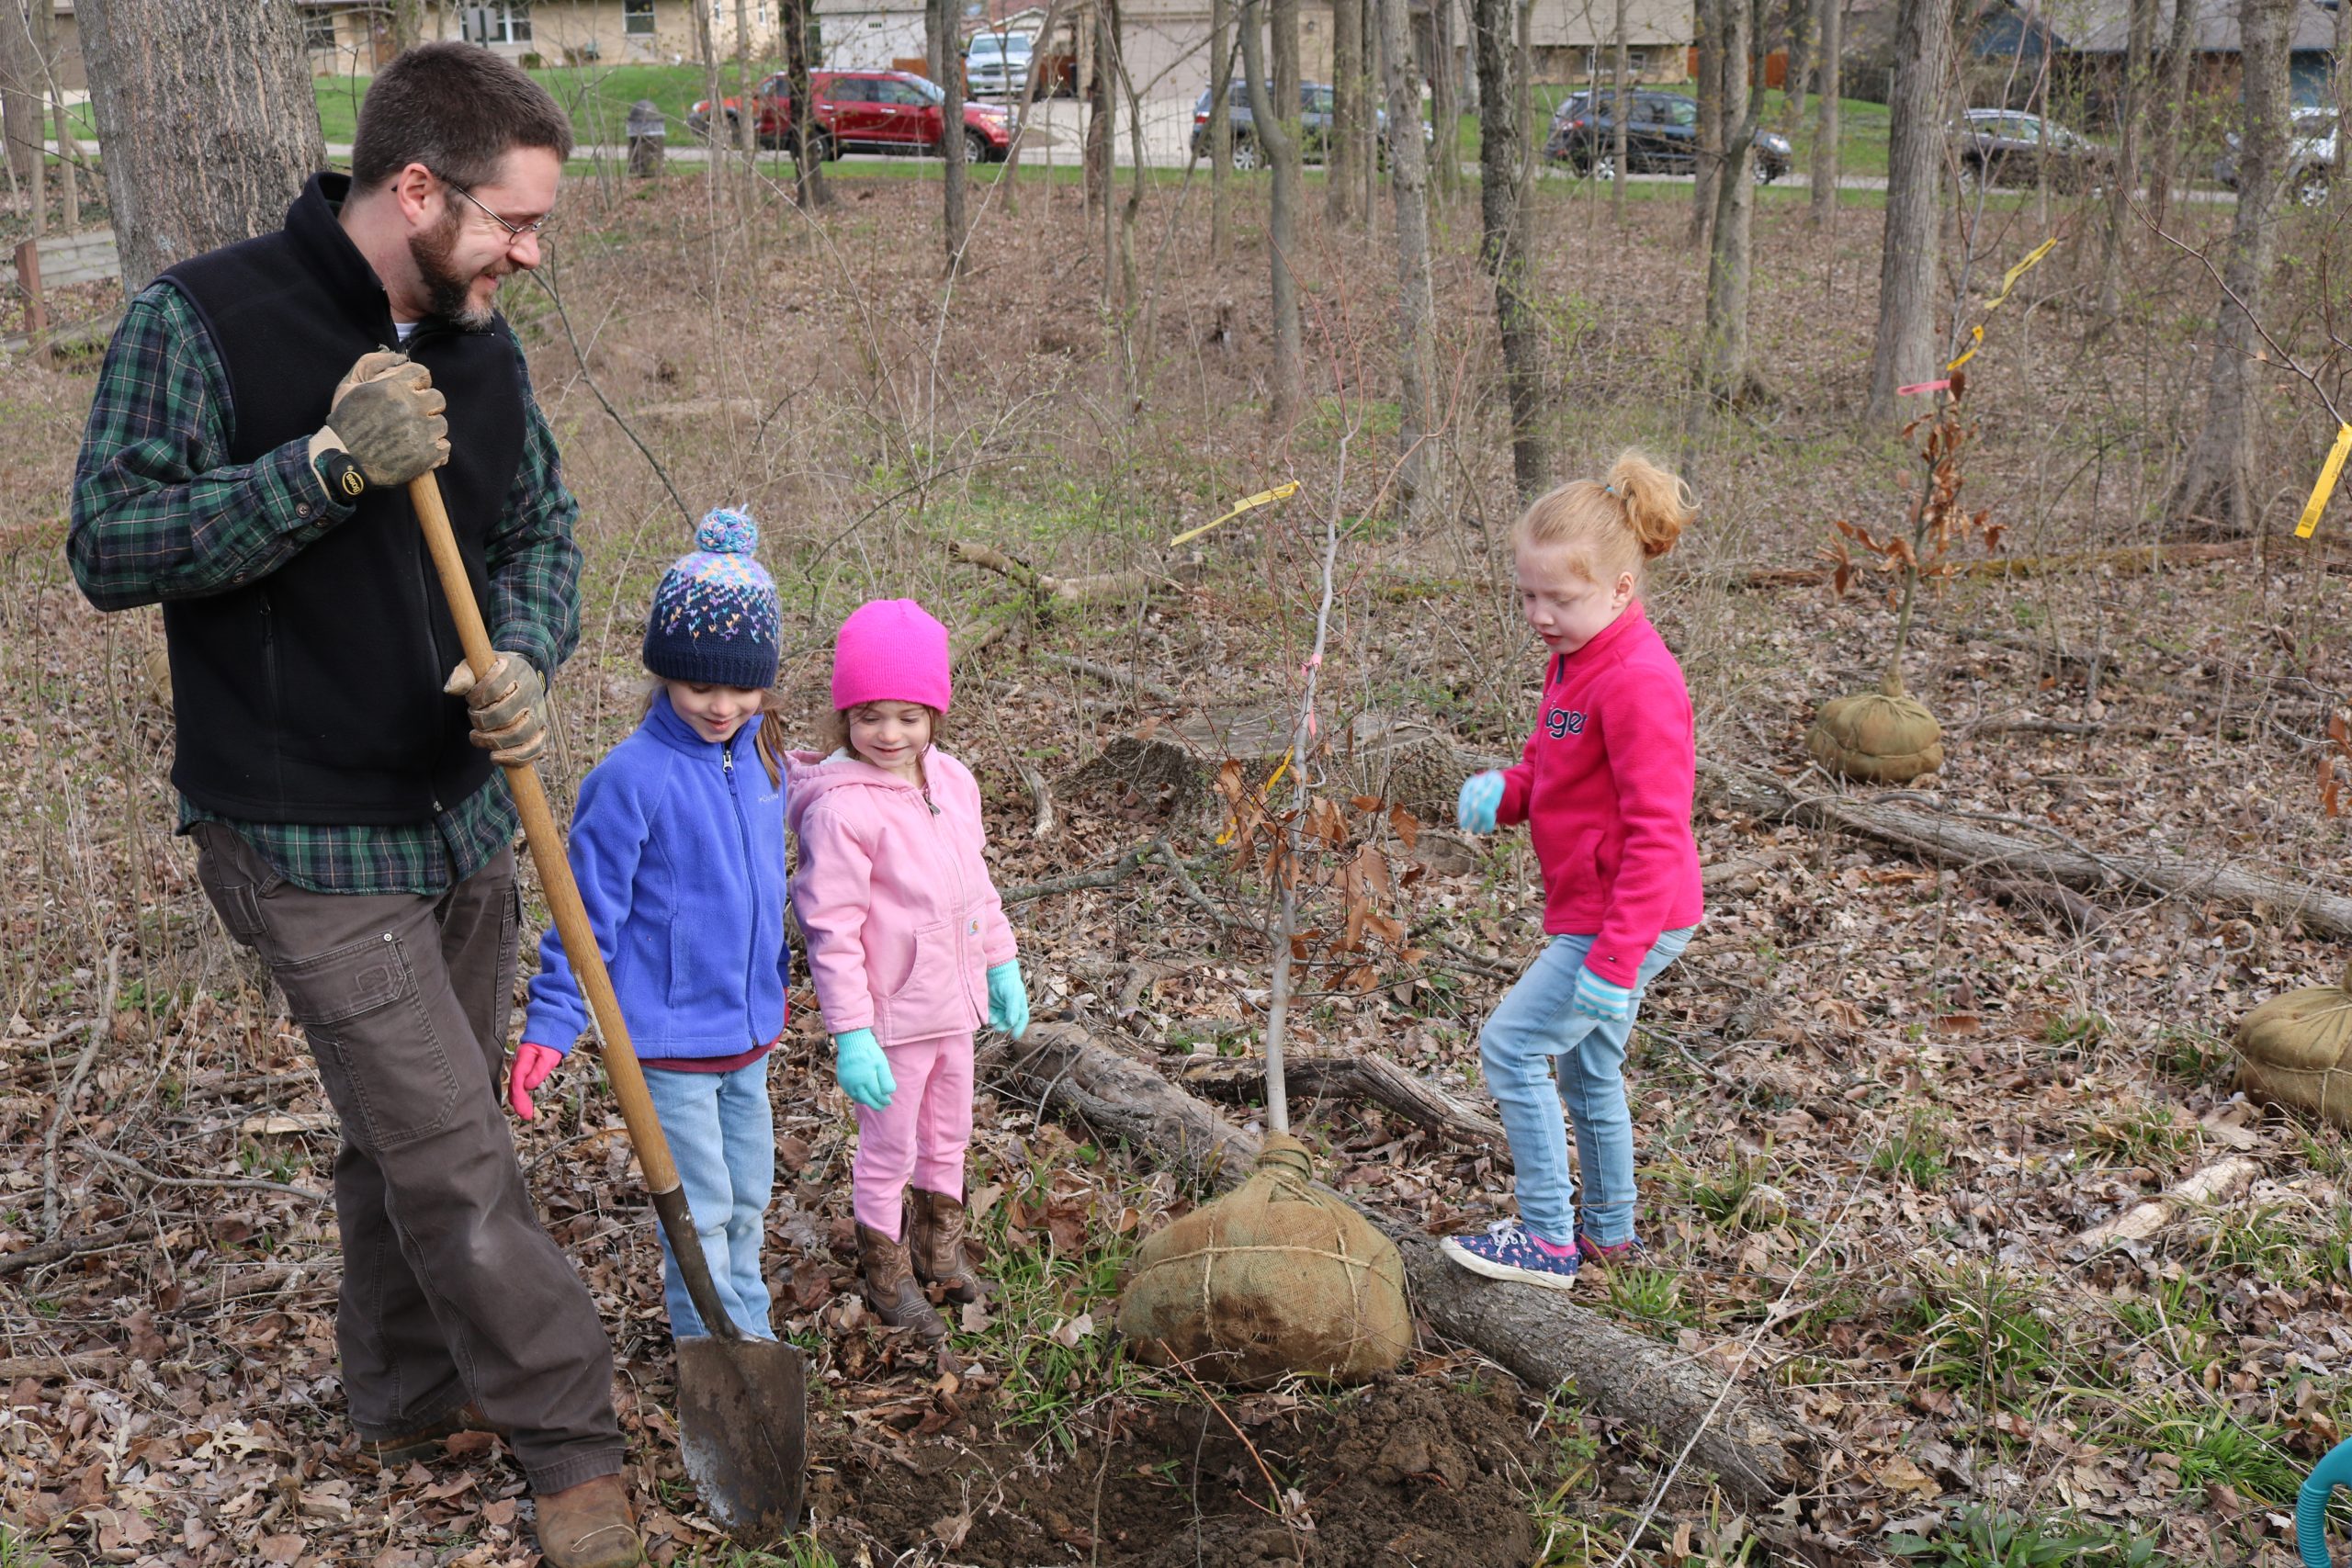
[[[1494,1279],[1566,1291],[1578,1255],[1635,1246],[1625,1046],[1642,987],[1700,917],[1691,693],[1635,592],[1691,512],[1682,480],[1628,451],[1606,484],[1571,480],[1512,529],[1519,609],[1550,654],[1543,710],[1519,766],[1470,778],[1458,811],[1470,832],[1529,825],[1550,940],[1479,1032],[1519,1218],[1442,1244]]]

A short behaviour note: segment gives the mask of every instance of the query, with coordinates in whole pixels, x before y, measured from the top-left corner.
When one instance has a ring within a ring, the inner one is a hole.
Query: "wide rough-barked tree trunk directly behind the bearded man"
[[[327,167],[301,14],[214,0],[80,0],[75,12],[125,296],[183,256],[285,223]],[[155,103],[205,134],[158,136]]]

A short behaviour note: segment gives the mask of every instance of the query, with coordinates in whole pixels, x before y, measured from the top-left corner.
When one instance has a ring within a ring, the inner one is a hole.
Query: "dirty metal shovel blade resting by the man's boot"
[[[703,1509],[741,1547],[800,1528],[809,1387],[797,1345],[677,1342],[677,1434]]]

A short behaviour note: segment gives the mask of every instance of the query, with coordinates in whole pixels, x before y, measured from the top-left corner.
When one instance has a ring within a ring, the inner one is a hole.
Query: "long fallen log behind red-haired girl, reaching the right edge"
[[[1698,759],[1700,788],[1724,806],[1766,823],[1804,823],[1837,827],[1879,844],[1891,844],[1922,860],[2006,870],[2046,877],[2082,893],[2164,893],[2176,898],[2211,898],[2239,910],[2265,910],[2277,919],[2298,919],[2319,936],[2352,936],[2352,898],[2288,882],[2267,872],[2223,865],[2218,858],[2185,860],[2166,853],[2091,853],[2051,835],[2030,842],[1971,823],[1955,813],[1926,811],[1853,795],[1797,795],[1771,773]]]

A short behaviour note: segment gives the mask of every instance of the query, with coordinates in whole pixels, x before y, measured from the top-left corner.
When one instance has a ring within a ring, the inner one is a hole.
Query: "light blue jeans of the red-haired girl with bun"
[[[1691,931],[1668,931],[1649,950],[1632,987],[1635,1011],[1649,983],[1689,943]],[[1576,1178],[1559,1121],[1566,1107],[1576,1124],[1576,1164],[1585,1173],[1583,1234],[1616,1246],[1632,1239],[1632,1110],[1625,1105],[1632,1023],[1569,1009],[1590,947],[1590,936],[1545,943],[1486,1018],[1477,1053],[1519,1168],[1519,1222],[1545,1241],[1576,1239]]]

